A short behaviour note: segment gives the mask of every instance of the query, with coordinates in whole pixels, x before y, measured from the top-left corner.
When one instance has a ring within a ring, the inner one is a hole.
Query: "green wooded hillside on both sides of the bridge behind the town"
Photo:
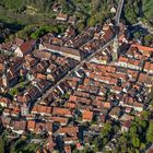
[[[27,25],[35,27],[37,24],[50,26],[57,25],[55,17],[59,12],[62,12],[75,16],[78,21],[75,27],[81,32],[86,26],[94,26],[96,23],[104,23],[107,19],[113,17],[114,13],[110,13],[110,10],[113,7],[117,8],[118,1],[119,0],[1,0],[0,21],[21,25],[21,27]],[[148,23],[152,26],[152,5],[153,0],[125,0],[121,20],[127,24],[136,24],[141,20],[143,23]],[[3,31],[3,28],[1,28],[1,31]],[[25,32],[26,31],[24,31],[22,35],[26,36]],[[8,31],[7,35],[5,33],[1,34],[1,40],[9,38],[9,34]]]

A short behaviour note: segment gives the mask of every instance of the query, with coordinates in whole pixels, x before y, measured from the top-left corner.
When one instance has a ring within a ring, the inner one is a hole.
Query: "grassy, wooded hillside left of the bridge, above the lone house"
[[[113,16],[110,9],[117,7],[117,2],[118,0],[1,0],[0,21],[22,25],[25,28],[17,35],[27,38],[26,33],[31,35],[33,27],[59,25],[55,19],[61,12],[75,16],[75,27],[81,32],[86,26],[104,23]],[[62,24],[66,25],[67,23]],[[5,38],[8,37],[9,35]]]

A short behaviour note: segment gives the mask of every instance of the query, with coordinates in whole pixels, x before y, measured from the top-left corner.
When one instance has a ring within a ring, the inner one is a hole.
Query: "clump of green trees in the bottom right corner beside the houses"
[[[153,142],[153,121],[150,110],[143,110],[141,117],[136,117],[128,132],[117,138],[116,150],[118,153],[144,152],[145,148]]]

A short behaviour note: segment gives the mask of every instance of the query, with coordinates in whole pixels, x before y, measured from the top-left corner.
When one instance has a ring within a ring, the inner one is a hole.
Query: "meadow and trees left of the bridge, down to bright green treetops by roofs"
[[[57,24],[54,20],[57,12],[54,12],[52,5],[57,0],[1,0],[0,1],[0,21],[4,21],[19,27],[10,32],[10,28],[2,31],[0,43],[4,39],[13,39],[14,33],[21,38],[38,38],[48,33],[60,33],[66,28],[62,24]],[[103,23],[107,17],[110,17],[110,8],[116,4],[116,1],[101,0],[58,0],[61,12],[69,15],[74,15],[78,19],[76,27],[81,32],[84,27],[94,26],[96,23]],[[24,20],[23,20],[24,19]],[[58,26],[57,26],[58,25]],[[20,28],[20,30],[21,30]]]

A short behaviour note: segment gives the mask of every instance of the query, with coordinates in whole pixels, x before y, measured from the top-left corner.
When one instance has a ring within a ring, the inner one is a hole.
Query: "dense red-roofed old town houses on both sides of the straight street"
[[[73,30],[69,32],[73,33]],[[55,37],[47,34],[37,42],[26,43],[17,39],[11,43],[11,47],[8,45],[8,49],[3,44],[2,49],[12,51],[17,58],[10,57],[3,67],[5,59],[1,57],[0,69],[7,72],[5,79],[14,73],[16,80],[12,86],[21,90],[13,99],[0,97],[0,105],[4,107],[1,115],[3,126],[21,136],[26,131],[47,132],[46,145],[50,152],[57,148],[66,152],[73,146],[83,149],[90,134],[98,136],[105,122],[118,121],[121,131],[128,131],[131,120],[145,109],[153,83],[152,55],[146,56],[136,46],[120,52],[116,62],[111,62],[114,48],[108,46],[57,84],[45,98],[37,101],[113,35],[110,26],[99,25],[80,35]],[[25,84],[21,87],[19,82]],[[8,84],[4,78],[2,83]]]

